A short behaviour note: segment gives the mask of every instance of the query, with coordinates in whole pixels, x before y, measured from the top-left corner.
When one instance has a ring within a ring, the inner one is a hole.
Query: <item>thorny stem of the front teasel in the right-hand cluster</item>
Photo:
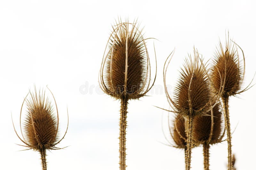
[[[192,113],[190,113],[188,117],[188,140],[187,140],[187,152],[186,152],[186,158],[185,158],[186,170],[190,170],[193,120],[194,120],[194,116]]]

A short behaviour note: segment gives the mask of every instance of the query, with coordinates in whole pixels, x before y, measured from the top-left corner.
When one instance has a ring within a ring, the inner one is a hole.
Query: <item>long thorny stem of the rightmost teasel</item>
[[[228,97],[222,97],[224,105],[224,118],[225,118],[225,128],[227,129],[227,141],[228,141],[228,170],[232,170],[232,150],[231,150],[231,132],[230,132],[230,122],[229,122],[229,112],[228,112]]]

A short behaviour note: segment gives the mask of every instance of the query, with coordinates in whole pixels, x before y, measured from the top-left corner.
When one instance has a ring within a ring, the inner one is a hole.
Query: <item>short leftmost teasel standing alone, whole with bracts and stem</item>
[[[49,91],[51,92],[50,89]],[[52,97],[55,102],[57,115],[54,114],[52,102],[48,97],[45,97],[45,91],[37,91],[35,87],[34,92],[28,92],[20,109],[20,132],[22,138],[18,135],[12,121],[16,135],[21,142],[25,144],[21,146],[27,147],[25,150],[33,149],[34,151],[38,151],[40,153],[43,170],[47,169],[46,151],[63,149],[56,147],[56,145],[62,141],[68,130],[67,125],[65,134],[61,139],[59,139],[59,112],[53,94]],[[27,106],[27,110],[22,128],[21,113],[24,103]]]

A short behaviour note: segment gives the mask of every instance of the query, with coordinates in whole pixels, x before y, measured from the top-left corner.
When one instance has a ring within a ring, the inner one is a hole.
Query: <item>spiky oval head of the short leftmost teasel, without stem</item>
[[[24,135],[31,149],[40,151],[51,149],[58,139],[58,119],[45,92],[30,92],[26,99],[27,113],[24,122]]]

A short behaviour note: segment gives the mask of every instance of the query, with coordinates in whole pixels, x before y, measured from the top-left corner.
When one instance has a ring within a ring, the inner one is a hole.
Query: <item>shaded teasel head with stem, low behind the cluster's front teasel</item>
[[[220,103],[207,113],[209,116],[197,116],[194,120],[193,139],[197,145],[203,145],[204,170],[209,170],[209,148],[210,144],[220,143],[225,135],[225,129],[222,130],[222,119]]]

